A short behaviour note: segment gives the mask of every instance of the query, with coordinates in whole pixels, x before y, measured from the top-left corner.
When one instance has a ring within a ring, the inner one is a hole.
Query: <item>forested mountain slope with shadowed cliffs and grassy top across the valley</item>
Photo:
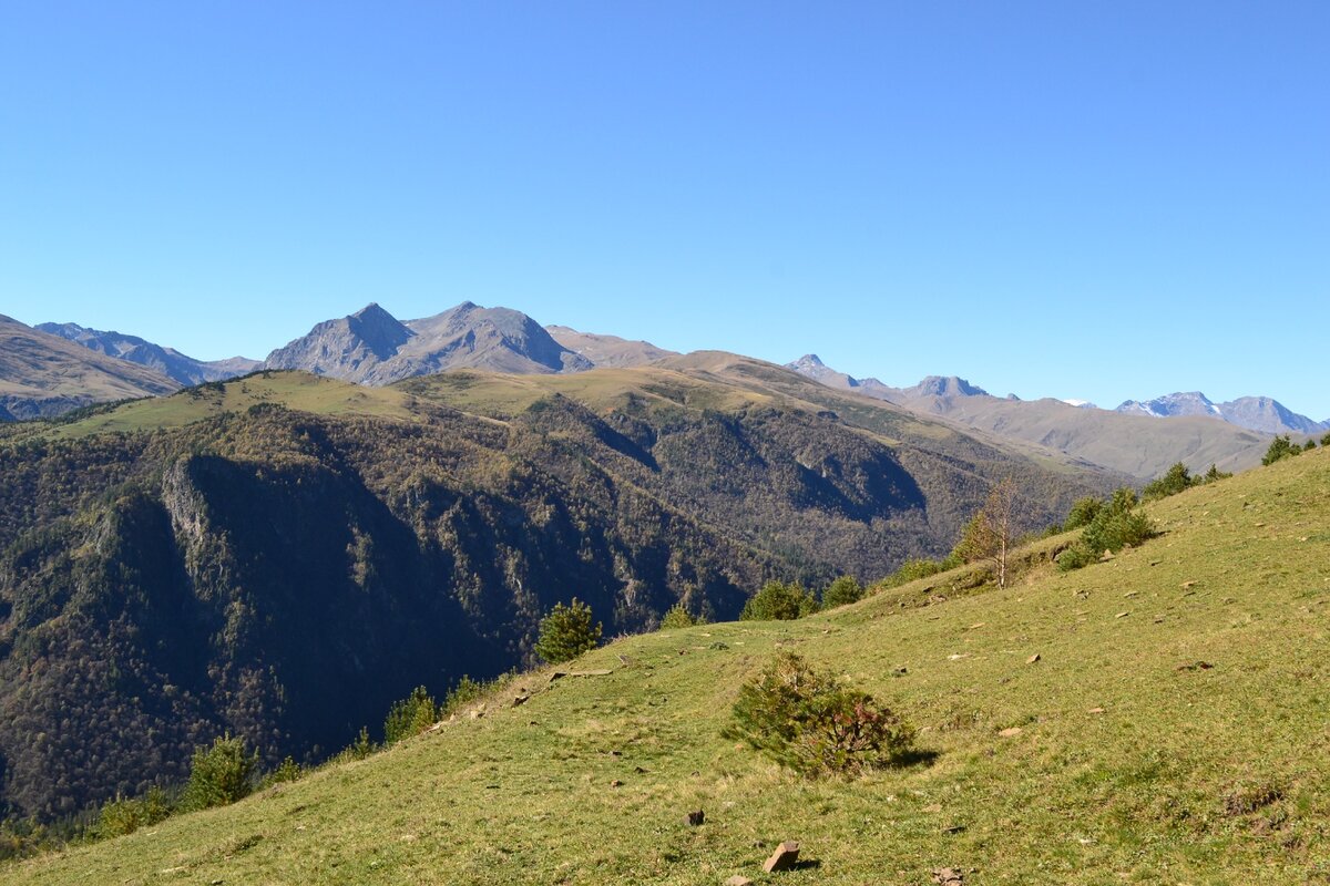
[[[676,360],[392,388],[262,372],[4,429],[3,798],[136,793],[222,729],[318,756],[420,681],[521,663],[575,595],[608,635],[677,602],[734,618],[771,576],[942,555],[1001,477],[1031,527],[1113,480],[770,364]]]

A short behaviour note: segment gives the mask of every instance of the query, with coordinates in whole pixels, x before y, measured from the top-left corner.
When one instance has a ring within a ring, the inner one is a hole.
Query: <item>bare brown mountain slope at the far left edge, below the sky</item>
[[[176,391],[165,375],[0,315],[0,421]]]

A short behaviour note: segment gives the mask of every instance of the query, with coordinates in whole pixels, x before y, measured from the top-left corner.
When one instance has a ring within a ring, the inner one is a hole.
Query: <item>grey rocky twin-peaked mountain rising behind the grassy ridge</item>
[[[265,365],[386,385],[456,368],[580,372],[592,361],[559,344],[520,311],[463,302],[432,317],[406,323],[370,304],[339,320],[319,323],[270,353]]]

